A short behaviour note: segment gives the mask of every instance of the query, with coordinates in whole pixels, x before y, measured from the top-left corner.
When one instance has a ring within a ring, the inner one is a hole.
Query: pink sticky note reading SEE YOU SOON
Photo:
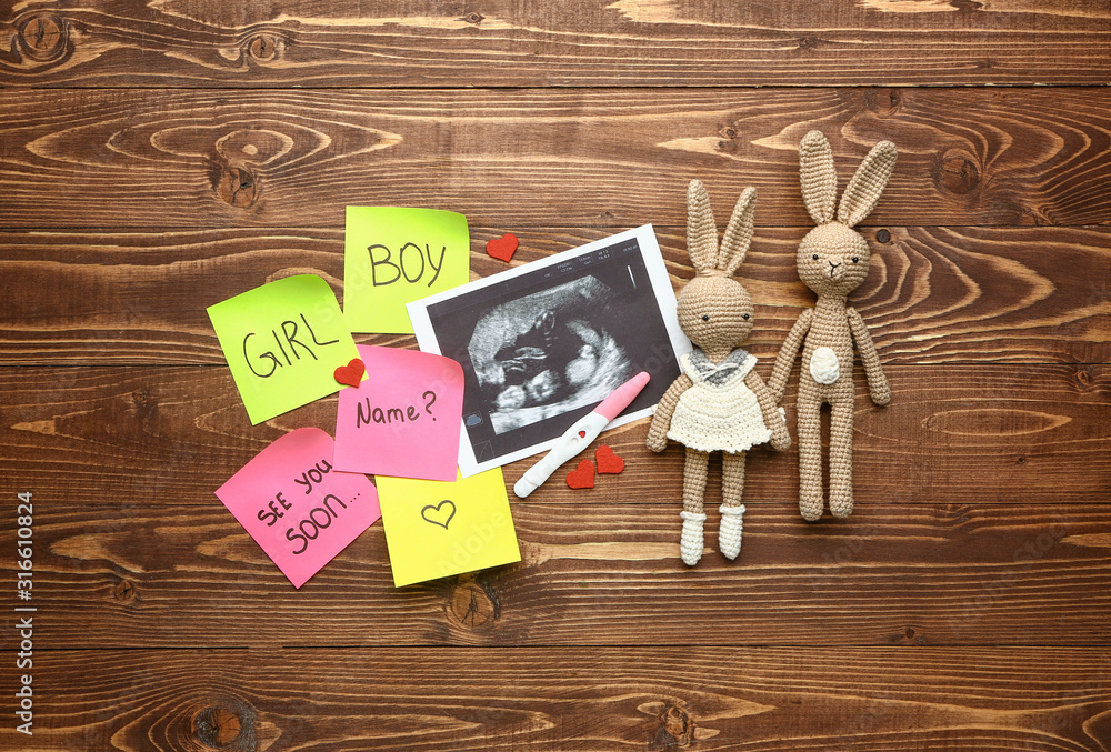
[[[216,492],[294,588],[382,515],[374,484],[338,471],[333,450],[320,429],[297,429]]]

